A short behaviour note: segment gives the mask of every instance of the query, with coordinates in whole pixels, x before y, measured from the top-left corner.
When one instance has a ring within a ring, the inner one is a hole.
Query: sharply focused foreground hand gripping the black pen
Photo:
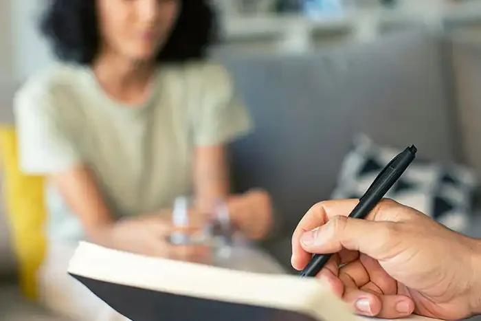
[[[366,220],[346,218],[356,204],[326,201],[307,212],[293,234],[295,269],[311,253],[337,253],[318,277],[364,316],[459,320],[480,312],[479,241],[394,201]]]

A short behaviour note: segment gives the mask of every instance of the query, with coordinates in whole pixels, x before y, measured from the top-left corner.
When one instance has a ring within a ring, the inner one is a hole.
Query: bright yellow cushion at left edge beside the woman
[[[14,126],[0,126],[0,153],[5,215],[19,265],[20,285],[27,298],[36,300],[36,272],[46,249],[44,178],[21,173]]]

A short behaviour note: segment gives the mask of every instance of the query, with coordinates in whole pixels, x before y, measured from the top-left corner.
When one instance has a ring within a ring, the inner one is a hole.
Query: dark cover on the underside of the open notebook
[[[132,321],[324,321],[294,311],[180,296],[70,275]]]

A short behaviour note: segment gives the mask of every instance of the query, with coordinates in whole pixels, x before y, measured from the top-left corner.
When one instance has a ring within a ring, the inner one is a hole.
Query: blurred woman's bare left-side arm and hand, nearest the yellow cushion
[[[173,231],[170,210],[114,219],[87,166],[74,166],[48,175],[48,179],[59,190],[69,209],[80,218],[87,239],[93,243],[148,256],[188,258],[197,253],[194,247],[178,251],[166,241],[166,236]],[[186,232],[190,230],[196,230],[195,226],[185,229]]]

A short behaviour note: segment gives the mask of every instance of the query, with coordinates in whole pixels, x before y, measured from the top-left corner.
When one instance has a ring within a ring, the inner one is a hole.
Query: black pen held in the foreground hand
[[[349,217],[354,219],[365,219],[376,204],[383,199],[385,193],[392,188],[396,181],[403,175],[407,166],[416,157],[418,149],[412,145],[402,153],[394,157],[381,173],[377,175],[366,193],[359,199],[359,203],[350,212]],[[309,264],[302,270],[300,276],[316,276],[326,265],[333,254],[315,254]]]

